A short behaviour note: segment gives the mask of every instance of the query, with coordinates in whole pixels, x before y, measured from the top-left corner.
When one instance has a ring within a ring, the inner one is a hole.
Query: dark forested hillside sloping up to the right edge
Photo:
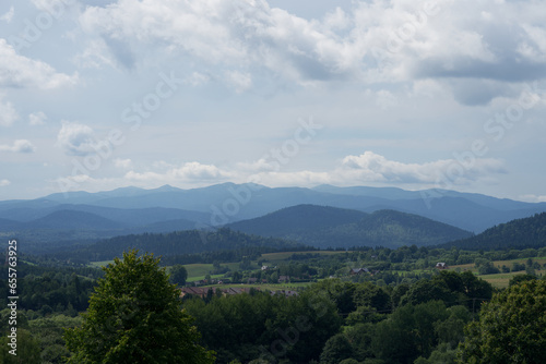
[[[543,247],[546,246],[546,213],[500,223],[475,236],[440,246],[485,251]]]

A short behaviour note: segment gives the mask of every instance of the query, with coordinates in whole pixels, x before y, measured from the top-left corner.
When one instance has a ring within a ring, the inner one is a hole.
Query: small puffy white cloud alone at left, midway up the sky
[[[95,132],[85,124],[63,121],[57,134],[57,146],[70,156],[86,156],[96,153]]]

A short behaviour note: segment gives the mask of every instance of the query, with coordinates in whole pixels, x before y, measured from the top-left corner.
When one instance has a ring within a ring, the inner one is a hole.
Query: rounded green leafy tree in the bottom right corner
[[[546,281],[510,287],[465,329],[461,363],[546,363]]]

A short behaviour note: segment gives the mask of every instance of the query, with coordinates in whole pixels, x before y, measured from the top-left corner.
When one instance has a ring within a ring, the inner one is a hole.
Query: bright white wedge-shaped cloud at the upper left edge
[[[54,89],[74,85],[79,76],[58,73],[49,64],[20,56],[0,38],[0,87]]]

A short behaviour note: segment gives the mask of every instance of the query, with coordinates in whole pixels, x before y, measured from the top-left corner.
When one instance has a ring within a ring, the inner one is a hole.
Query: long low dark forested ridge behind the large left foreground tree
[[[70,246],[54,253],[61,259],[109,260],[124,251],[138,248],[142,253],[171,256],[217,251],[248,251],[268,253],[274,251],[302,251],[310,247],[276,238],[248,235],[223,228],[216,231],[186,230],[171,233],[144,233],[116,236],[84,246]]]

